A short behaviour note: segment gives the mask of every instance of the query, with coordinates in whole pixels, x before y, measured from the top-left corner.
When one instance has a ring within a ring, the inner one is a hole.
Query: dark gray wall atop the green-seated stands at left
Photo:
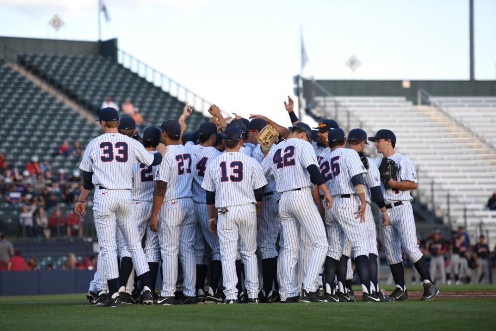
[[[117,39],[98,42],[0,36],[0,59],[15,62],[19,53],[102,55],[117,59]]]

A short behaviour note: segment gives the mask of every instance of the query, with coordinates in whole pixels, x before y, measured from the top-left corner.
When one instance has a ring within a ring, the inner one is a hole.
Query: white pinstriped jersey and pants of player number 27
[[[155,173],[155,181],[167,183],[164,202],[158,216],[158,237],[162,254],[161,296],[174,296],[178,278],[178,254],[183,267],[183,293],[194,296],[196,260],[194,236],[196,220],[191,199],[191,183],[196,159],[189,148],[169,145],[164,160]]]

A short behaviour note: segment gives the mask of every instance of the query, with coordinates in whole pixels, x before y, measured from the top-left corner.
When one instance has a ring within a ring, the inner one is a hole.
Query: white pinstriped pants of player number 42
[[[327,241],[324,223],[313,202],[310,188],[282,193],[279,201],[281,219],[281,250],[277,260],[277,277],[281,299],[298,295],[296,264],[300,251],[300,232],[312,243],[309,262],[303,280],[303,288],[309,292],[317,289],[316,279],[325,260]],[[300,267],[301,268],[301,267]]]

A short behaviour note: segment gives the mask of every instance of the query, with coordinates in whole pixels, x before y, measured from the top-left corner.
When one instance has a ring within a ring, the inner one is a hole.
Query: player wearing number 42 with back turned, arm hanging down
[[[281,301],[325,302],[316,294],[316,278],[326,253],[326,235],[321,216],[313,202],[311,191],[317,185],[325,195],[326,207],[332,198],[324,185],[318,169],[315,152],[310,144],[311,129],[303,122],[292,127],[288,139],[276,148],[264,151],[262,162],[265,175],[272,175],[276,182],[281,220],[281,249],[277,261],[277,276]],[[312,249],[303,280],[301,296],[295,282],[295,266],[300,250],[300,236],[308,236]]]

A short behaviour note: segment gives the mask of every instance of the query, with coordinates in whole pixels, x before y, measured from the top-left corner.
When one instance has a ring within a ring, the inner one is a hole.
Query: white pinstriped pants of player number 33
[[[122,232],[132,262],[139,275],[149,271],[139,240],[138,227],[133,221],[130,190],[95,189],[93,215],[98,236],[99,259],[104,262],[105,279],[119,277],[117,264],[117,228]]]

